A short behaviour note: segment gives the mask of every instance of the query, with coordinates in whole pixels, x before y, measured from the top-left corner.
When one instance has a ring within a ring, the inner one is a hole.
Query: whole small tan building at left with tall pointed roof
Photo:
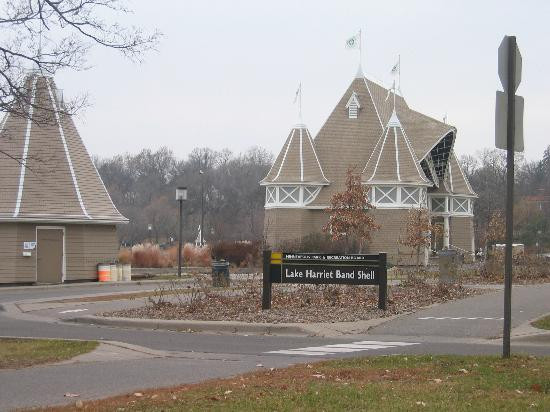
[[[25,80],[28,116],[0,124],[0,283],[97,279],[117,257],[113,205],[51,77]]]

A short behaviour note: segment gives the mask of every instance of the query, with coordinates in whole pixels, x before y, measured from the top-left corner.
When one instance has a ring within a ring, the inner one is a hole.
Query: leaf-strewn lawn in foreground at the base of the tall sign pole
[[[550,410],[550,358],[382,356],[84,402],[116,411]],[[59,408],[71,410],[74,405]]]

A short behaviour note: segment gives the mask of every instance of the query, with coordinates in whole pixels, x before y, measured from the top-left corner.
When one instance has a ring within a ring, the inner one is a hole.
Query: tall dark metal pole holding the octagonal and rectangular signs
[[[504,331],[502,357],[510,357],[510,330],[512,326],[512,242],[514,237],[514,145],[515,145],[515,68],[516,38],[508,37],[508,124],[506,136],[506,250],[504,257]]]

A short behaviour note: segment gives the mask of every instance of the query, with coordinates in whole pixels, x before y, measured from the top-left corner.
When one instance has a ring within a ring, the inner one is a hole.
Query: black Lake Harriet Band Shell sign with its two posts
[[[333,255],[264,251],[262,309],[271,308],[273,283],[378,285],[378,308],[386,310],[386,254]]]

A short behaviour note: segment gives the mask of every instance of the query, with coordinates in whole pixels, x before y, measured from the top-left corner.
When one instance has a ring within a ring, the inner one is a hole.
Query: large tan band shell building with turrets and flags
[[[303,124],[288,135],[268,175],[264,229],[271,247],[320,232],[331,196],[344,190],[348,168],[370,188],[381,229],[369,252],[392,263],[410,261],[399,245],[408,210],[425,207],[444,230],[432,249],[474,252],[473,200],[477,197],[454,151],[455,127],[409,107],[359,71],[313,139]],[[424,253],[428,256],[428,250]]]

